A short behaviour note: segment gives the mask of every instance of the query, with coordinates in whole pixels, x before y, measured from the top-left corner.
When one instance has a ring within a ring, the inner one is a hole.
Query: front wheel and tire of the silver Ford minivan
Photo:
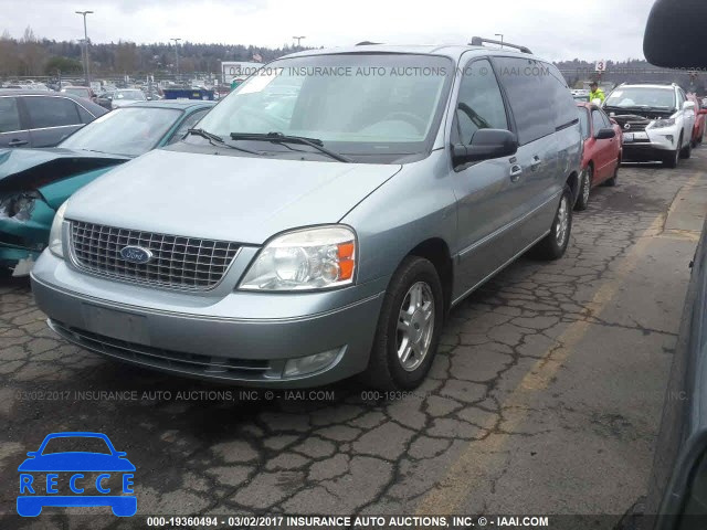
[[[436,268],[408,256],[383,298],[363,383],[381,390],[411,390],[432,365],[444,324],[444,296]]]

